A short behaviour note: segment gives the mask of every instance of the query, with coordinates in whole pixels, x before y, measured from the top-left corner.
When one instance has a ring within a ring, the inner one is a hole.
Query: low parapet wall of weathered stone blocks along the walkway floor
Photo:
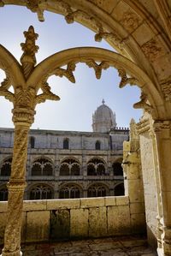
[[[6,211],[7,202],[0,202],[0,243]],[[143,209],[130,208],[128,196],[25,201],[22,242],[140,234],[145,226],[142,215]]]

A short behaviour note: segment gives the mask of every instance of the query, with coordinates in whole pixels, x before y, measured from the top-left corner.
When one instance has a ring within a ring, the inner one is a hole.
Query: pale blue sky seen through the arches
[[[25,42],[23,32],[32,25],[39,35],[37,63],[57,51],[73,47],[96,46],[114,51],[104,40],[95,42],[94,33],[79,23],[67,24],[62,15],[50,12],[45,12],[44,17],[45,21],[40,22],[36,14],[19,6],[0,8],[0,22],[3,24],[0,26],[0,44],[20,60],[20,44]],[[61,100],[38,104],[32,128],[91,131],[92,113],[102,104],[103,98],[105,104],[115,111],[118,127],[128,127],[132,117],[139,122],[142,110],[134,110],[133,104],[139,101],[140,90],[137,86],[120,89],[117,70],[104,70],[101,80],[97,80],[93,69],[82,63],[77,65],[74,75],[75,84],[65,78],[50,77],[51,89]],[[3,78],[0,70],[0,81]],[[0,127],[14,127],[12,108],[9,101],[0,97]]]

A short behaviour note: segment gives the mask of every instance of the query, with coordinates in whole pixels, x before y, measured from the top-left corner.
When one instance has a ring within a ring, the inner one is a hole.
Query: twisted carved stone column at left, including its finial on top
[[[0,95],[5,96],[14,104],[12,112],[15,124],[13,161],[8,183],[8,218],[2,256],[21,256],[22,254],[21,222],[23,196],[26,187],[27,140],[29,129],[34,120],[35,106],[46,99],[60,99],[50,92],[50,86],[45,80],[44,75],[42,75],[43,79],[39,81],[39,84],[35,81],[32,82],[32,85],[27,84],[26,81],[30,74],[32,74],[36,64],[35,53],[38,51],[38,46],[35,45],[35,40],[38,38],[38,34],[34,33],[34,28],[31,26],[28,28],[28,31],[24,32],[24,35],[26,42],[21,44],[24,51],[21,56],[22,65],[16,64],[17,61],[15,60],[15,65],[18,67],[18,76],[22,77],[22,79],[13,85],[14,93],[12,93],[9,91],[9,87],[13,83],[10,79],[10,74],[7,72],[7,77],[0,86]],[[38,94],[37,87],[42,89],[42,93]]]

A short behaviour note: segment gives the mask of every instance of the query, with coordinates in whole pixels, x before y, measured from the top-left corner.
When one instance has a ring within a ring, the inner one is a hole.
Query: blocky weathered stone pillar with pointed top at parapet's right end
[[[137,125],[130,123],[130,141],[123,143],[123,172],[125,194],[129,196],[131,226],[133,233],[144,232],[144,188],[139,154],[139,134]]]

